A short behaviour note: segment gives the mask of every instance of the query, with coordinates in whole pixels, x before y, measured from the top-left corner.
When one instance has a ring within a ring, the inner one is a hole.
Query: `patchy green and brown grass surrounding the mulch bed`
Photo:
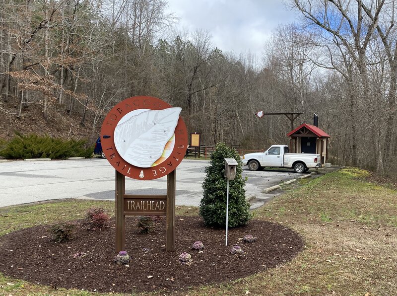
[[[304,250],[291,262],[231,283],[192,288],[183,295],[397,295],[397,191],[345,168],[299,181],[300,186],[255,211],[255,219],[300,233]],[[81,219],[114,203],[68,200],[0,209],[0,233]],[[198,215],[177,207],[177,215]],[[11,284],[8,285],[7,283]],[[57,290],[0,275],[0,295],[96,295]],[[153,294],[156,295],[156,294]]]

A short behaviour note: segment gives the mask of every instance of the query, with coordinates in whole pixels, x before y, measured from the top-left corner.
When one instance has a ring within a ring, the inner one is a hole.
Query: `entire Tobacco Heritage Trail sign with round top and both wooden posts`
[[[153,97],[118,103],[105,117],[101,144],[116,169],[116,252],[125,250],[126,216],[166,216],[166,251],[175,250],[175,169],[188,148],[186,125],[173,108]],[[152,180],[167,176],[166,195],[126,194],[125,177]]]

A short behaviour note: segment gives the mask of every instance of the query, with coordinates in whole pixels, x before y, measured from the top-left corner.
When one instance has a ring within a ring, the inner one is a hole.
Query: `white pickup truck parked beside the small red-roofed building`
[[[242,160],[252,171],[264,167],[288,167],[303,173],[309,168],[321,167],[320,154],[288,153],[286,145],[272,145],[265,152],[244,154]]]

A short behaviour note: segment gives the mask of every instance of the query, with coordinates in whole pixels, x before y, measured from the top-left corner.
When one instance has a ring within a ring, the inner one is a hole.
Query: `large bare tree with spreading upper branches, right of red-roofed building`
[[[357,0],[293,0],[292,6],[301,11],[307,20],[307,26],[317,27],[320,38],[319,46],[327,48],[330,55],[329,68],[342,74],[349,86],[348,107],[350,110],[350,130],[352,164],[358,163],[357,155],[357,103],[359,93],[362,97],[369,95],[367,73],[367,49],[373,39],[379,15],[385,0],[372,1],[374,17],[365,15],[363,3]],[[339,56],[336,58],[336,53]],[[337,59],[341,58],[342,63]],[[358,70],[356,73],[355,70]],[[356,76],[358,78],[356,79]]]

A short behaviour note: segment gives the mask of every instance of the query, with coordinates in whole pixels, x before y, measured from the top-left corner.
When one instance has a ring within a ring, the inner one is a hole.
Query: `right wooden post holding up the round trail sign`
[[[167,232],[165,251],[175,251],[175,180],[176,170],[167,175]]]

